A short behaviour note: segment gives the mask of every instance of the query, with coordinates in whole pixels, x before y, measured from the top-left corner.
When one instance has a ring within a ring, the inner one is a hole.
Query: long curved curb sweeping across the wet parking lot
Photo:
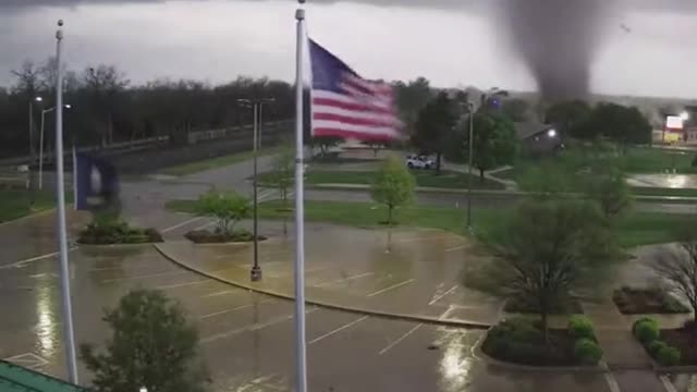
[[[280,298],[280,299],[285,299],[285,301],[292,301],[295,302],[295,297],[293,297],[292,295],[288,295],[288,294],[283,294],[283,293],[279,293],[272,290],[262,290],[262,289],[258,289],[255,287],[250,284],[244,284],[244,283],[240,283],[240,282],[235,282],[235,281],[231,281],[228,279],[223,279],[220,278],[213,273],[210,272],[206,272],[201,269],[195,268],[191,265],[188,265],[185,261],[179,260],[174,257],[172,257],[171,255],[168,255],[164,250],[162,250],[159,246],[159,244],[152,244],[152,246],[155,247],[155,249],[162,255],[162,257],[164,257],[166,259],[172,261],[173,264],[188,270],[192,271],[194,273],[200,274],[203,277],[212,279],[215,281],[231,285],[231,286],[235,286],[239,289],[243,289],[243,290],[248,290],[255,293],[259,293],[259,294],[266,294],[276,298]],[[455,328],[469,328],[469,329],[479,329],[479,330],[486,330],[491,328],[490,324],[486,324],[486,323],[479,323],[479,322],[472,322],[472,321],[460,321],[460,320],[448,320],[448,319],[439,319],[438,317],[430,317],[430,316],[415,316],[415,315],[407,315],[407,314],[396,314],[396,313],[388,313],[388,311],[380,311],[380,310],[370,310],[370,309],[362,309],[362,308],[357,308],[357,307],[350,307],[350,306],[344,306],[344,305],[339,305],[339,304],[332,304],[332,303],[328,303],[328,302],[323,302],[323,301],[313,301],[313,299],[306,299],[305,304],[308,305],[314,305],[314,306],[318,306],[318,307],[322,307],[322,308],[327,308],[327,309],[333,309],[333,310],[341,310],[341,311],[347,311],[347,313],[353,313],[353,314],[357,314],[357,315],[364,315],[364,316],[374,316],[374,317],[379,317],[379,318],[387,318],[387,319],[393,319],[393,320],[404,320],[404,321],[413,321],[413,322],[419,322],[419,323],[428,323],[428,324],[432,324],[432,326],[442,326],[442,327],[455,327]]]

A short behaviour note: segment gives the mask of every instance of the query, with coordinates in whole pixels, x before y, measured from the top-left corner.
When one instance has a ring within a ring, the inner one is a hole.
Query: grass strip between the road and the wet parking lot
[[[167,208],[192,212],[193,200],[171,200]],[[283,219],[292,212],[280,211],[281,201],[268,201],[259,205],[259,218]],[[473,221],[477,232],[487,232],[505,221],[511,208],[475,208]],[[401,225],[442,229],[450,232],[465,233],[464,209],[417,205],[398,209],[395,219]],[[307,221],[331,222],[338,224],[375,228],[387,218],[387,209],[372,203],[353,201],[305,201],[305,219]],[[617,223],[620,243],[626,247],[659,244],[674,241],[672,229],[694,220],[693,215],[675,215],[661,212],[629,212]]]

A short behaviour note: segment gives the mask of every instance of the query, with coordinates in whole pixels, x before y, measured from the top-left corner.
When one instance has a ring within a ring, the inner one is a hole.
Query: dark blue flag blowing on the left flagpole
[[[83,152],[73,152],[75,209],[98,210],[119,199],[119,177],[111,162]]]

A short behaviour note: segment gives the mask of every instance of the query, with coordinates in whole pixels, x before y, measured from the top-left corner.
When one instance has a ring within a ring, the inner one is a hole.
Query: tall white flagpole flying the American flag
[[[298,0],[302,5],[305,0]],[[297,44],[295,59],[295,392],[307,392],[307,353],[305,342],[305,209],[303,175],[303,21],[305,10],[295,11]]]

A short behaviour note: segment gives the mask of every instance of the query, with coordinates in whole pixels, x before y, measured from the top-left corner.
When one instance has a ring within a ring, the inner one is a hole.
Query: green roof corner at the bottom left
[[[0,360],[0,391],[86,392],[87,390],[38,371]]]

